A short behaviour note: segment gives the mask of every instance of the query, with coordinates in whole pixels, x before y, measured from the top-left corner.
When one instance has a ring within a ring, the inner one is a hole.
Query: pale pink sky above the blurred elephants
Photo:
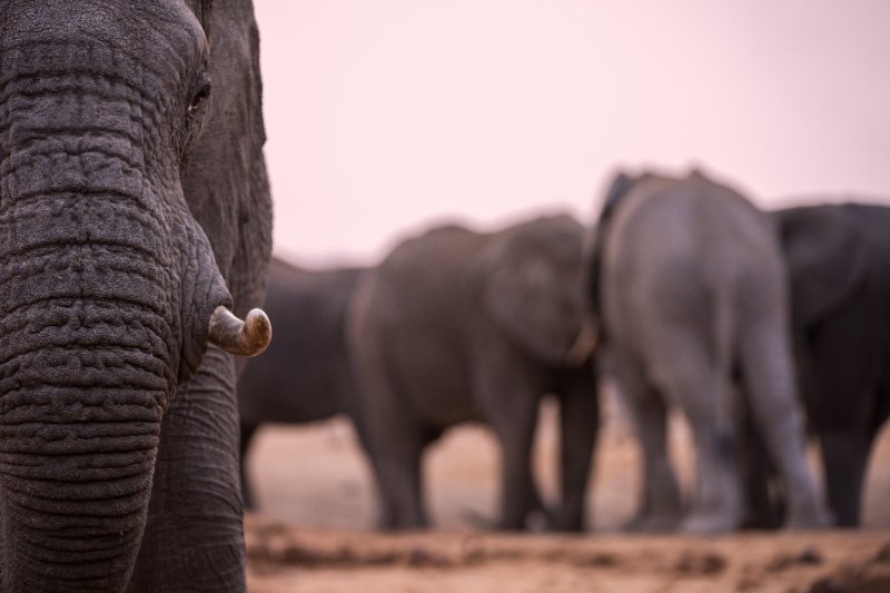
[[[693,164],[761,205],[890,199],[886,0],[255,0],[275,249],[372,263],[431,223]]]

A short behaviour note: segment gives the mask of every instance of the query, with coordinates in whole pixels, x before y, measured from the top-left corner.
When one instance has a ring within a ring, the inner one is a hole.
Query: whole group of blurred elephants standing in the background
[[[548,528],[582,530],[607,376],[643,453],[627,528],[857,525],[890,414],[890,208],[765,213],[699,171],[621,174],[592,223],[443,226],[365,269],[274,260],[277,337],[238,384],[245,500],[257,426],[345,414],[373,468],[379,526],[425,527],[424,448],[483,422],[501,452],[497,527],[543,512]],[[544,397],[560,407],[554,508],[531,470]],[[668,458],[672,409],[693,436],[689,501]]]

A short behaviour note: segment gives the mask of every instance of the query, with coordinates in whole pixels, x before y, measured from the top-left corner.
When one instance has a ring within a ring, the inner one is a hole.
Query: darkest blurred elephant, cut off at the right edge
[[[871,446],[890,415],[890,208],[824,205],[773,216],[788,261],[800,393],[829,506],[838,525],[852,527]],[[753,482],[758,518],[770,524],[777,512],[768,506],[764,518],[763,472]]]

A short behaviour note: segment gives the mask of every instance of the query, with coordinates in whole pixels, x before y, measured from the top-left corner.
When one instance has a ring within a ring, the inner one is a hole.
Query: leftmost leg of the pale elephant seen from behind
[[[682,516],[682,503],[668,457],[668,409],[659,393],[645,382],[639,366],[622,358],[615,360],[614,367],[619,391],[634,422],[643,461],[636,516],[625,528],[673,531]]]

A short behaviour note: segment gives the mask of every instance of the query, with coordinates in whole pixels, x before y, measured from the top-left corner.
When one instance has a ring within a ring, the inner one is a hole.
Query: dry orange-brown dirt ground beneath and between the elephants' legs
[[[861,531],[732,536],[617,533],[633,513],[639,452],[611,406],[591,481],[584,535],[497,534],[497,451],[478,426],[448,432],[426,455],[435,531],[372,530],[368,468],[345,421],[268,426],[250,472],[261,512],[246,520],[253,592],[888,592],[890,427],[872,456]],[[535,449],[542,491],[555,496],[556,432],[544,407]],[[682,422],[672,454],[684,484],[693,463]],[[815,462],[813,462],[815,465]]]

